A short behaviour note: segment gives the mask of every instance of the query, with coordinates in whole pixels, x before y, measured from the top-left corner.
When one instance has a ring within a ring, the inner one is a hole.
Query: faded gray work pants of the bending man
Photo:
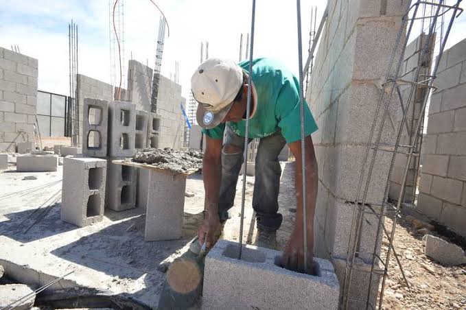
[[[241,151],[227,154],[222,150],[222,181],[218,212],[220,222],[229,218],[228,211],[233,206],[236,184],[244,160],[244,137],[238,136],[228,124],[225,126],[224,145],[240,147]],[[252,139],[248,140],[248,143]],[[278,195],[280,188],[281,167],[278,156],[286,141],[281,132],[261,138],[255,158],[255,183],[253,208],[256,211],[257,228],[277,230],[283,217],[278,213]]]

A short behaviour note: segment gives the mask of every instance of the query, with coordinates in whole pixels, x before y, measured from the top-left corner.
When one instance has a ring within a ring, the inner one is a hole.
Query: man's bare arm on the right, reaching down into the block
[[[301,140],[289,143],[290,150],[296,158],[296,171],[294,174],[294,186],[296,187],[296,223],[281,257],[281,265],[289,270],[304,271],[304,237],[303,237],[303,174]],[[311,136],[305,138],[305,178],[306,178],[306,210],[307,210],[307,270],[312,273],[312,261],[314,257],[314,210],[318,189],[317,160],[314,154]]]

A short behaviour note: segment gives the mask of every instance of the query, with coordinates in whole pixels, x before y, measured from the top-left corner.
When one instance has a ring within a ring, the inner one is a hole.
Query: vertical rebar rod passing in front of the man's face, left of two
[[[243,248],[243,225],[244,225],[244,199],[246,198],[246,167],[248,165],[248,135],[249,135],[249,117],[251,116],[251,97],[253,93],[253,49],[254,49],[254,22],[255,22],[255,4],[253,0],[253,10],[251,16],[251,51],[249,53],[249,71],[248,71],[248,102],[246,104],[246,133],[244,134],[244,158],[243,158],[243,188],[241,196],[241,219],[240,219],[240,243],[238,248],[238,259],[241,259]]]

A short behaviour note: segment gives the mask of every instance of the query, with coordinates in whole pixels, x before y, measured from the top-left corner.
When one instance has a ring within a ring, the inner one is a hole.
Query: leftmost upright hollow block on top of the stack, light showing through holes
[[[82,154],[105,157],[107,155],[108,101],[84,98]]]

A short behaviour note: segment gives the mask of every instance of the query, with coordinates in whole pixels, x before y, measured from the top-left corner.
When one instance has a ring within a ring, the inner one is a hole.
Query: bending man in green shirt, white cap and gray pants
[[[207,146],[202,174],[205,187],[205,219],[198,230],[198,245],[214,245],[235,199],[238,175],[243,163],[246,134],[249,61],[211,58],[202,62],[191,78],[196,112]],[[277,246],[276,233],[282,222],[278,213],[281,167],[278,156],[288,143],[296,158],[296,224],[281,257],[289,270],[303,270],[303,187],[301,163],[301,118],[299,82],[277,60],[253,60],[252,97],[248,141],[260,139],[255,159],[253,208],[257,214],[255,245]],[[307,198],[307,260],[312,266],[314,208],[317,195],[317,163],[311,134],[317,130],[314,117],[305,104],[305,167]],[[312,272],[308,268],[305,272]]]

